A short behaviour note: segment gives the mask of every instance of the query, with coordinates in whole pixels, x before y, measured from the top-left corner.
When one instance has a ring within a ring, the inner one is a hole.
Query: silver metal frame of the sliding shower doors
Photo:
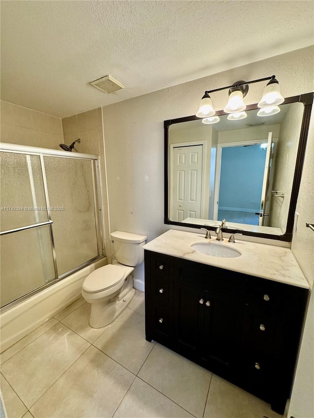
[[[48,221],[40,222],[32,225],[22,226],[20,228],[14,228],[7,231],[0,232],[0,236],[11,234],[13,232],[19,232],[26,229],[32,229],[40,226],[49,226],[50,232],[50,240],[52,246],[52,259],[53,259],[53,267],[54,267],[54,280],[51,280],[49,283],[44,284],[43,286],[33,290],[32,292],[27,293],[24,296],[19,297],[16,300],[4,305],[0,308],[0,314],[11,309],[13,306],[16,306],[23,301],[27,300],[29,297],[36,295],[37,293],[42,292],[43,290],[49,288],[55,283],[58,283],[60,280],[70,276],[71,274],[75,273],[78,270],[83,269],[84,267],[92,264],[93,262],[100,260],[105,257],[105,247],[104,247],[104,231],[103,231],[103,221],[102,221],[102,192],[101,192],[101,181],[100,181],[100,172],[99,172],[99,156],[92,155],[92,154],[83,154],[79,152],[70,153],[69,151],[59,151],[56,149],[50,148],[38,148],[38,147],[28,147],[22,145],[15,145],[15,144],[8,144],[8,143],[0,143],[0,151],[4,152],[11,152],[11,153],[18,153],[24,155],[38,155],[40,158],[40,166],[41,166],[41,174],[43,179],[44,185],[44,194],[45,194],[45,202],[47,208],[47,217]],[[69,155],[70,154],[70,155]],[[57,259],[56,259],[56,252],[55,252],[55,245],[54,245],[54,237],[53,237],[53,229],[52,229],[52,217],[51,217],[51,210],[49,204],[49,195],[48,195],[48,183],[46,177],[46,170],[45,170],[45,163],[44,163],[44,156],[54,156],[59,158],[74,158],[74,159],[81,159],[81,160],[89,160],[91,162],[91,177],[93,183],[93,198],[94,198],[94,212],[95,212],[95,227],[96,227],[96,240],[97,240],[97,251],[98,255],[96,257],[91,258],[90,260],[80,264],[79,266],[68,270],[60,275],[58,275],[57,270]],[[31,181],[31,180],[30,180]]]

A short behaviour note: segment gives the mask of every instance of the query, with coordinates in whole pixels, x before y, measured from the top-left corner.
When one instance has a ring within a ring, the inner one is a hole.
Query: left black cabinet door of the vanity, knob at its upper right
[[[205,292],[175,283],[174,333],[178,349],[195,354],[200,346],[204,321]]]

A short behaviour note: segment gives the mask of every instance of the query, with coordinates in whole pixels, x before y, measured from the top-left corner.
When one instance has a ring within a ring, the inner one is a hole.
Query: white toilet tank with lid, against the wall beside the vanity
[[[144,261],[144,248],[147,237],[130,232],[111,233],[115,259],[125,266],[135,267]]]

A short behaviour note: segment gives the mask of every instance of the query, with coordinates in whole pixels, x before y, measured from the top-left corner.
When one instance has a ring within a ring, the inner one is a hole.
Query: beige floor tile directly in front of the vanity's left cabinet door
[[[138,377],[202,418],[212,373],[162,345],[156,344]]]

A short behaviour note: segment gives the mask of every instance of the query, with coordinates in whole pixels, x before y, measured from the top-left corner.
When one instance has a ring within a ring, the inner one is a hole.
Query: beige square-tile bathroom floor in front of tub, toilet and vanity
[[[8,418],[281,418],[261,399],[145,340],[144,294],[110,325],[82,298],[1,354]]]

